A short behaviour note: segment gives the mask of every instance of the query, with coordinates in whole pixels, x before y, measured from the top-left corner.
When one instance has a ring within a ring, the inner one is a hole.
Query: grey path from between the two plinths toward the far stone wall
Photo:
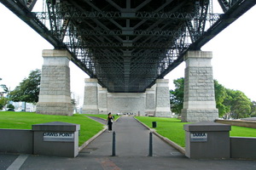
[[[133,117],[121,116],[118,122],[113,123],[113,131],[116,135],[116,156],[148,156],[149,131]],[[112,156],[112,139],[113,133],[105,131],[81,153],[90,153],[88,156]],[[155,136],[153,150],[154,156],[183,156]]]

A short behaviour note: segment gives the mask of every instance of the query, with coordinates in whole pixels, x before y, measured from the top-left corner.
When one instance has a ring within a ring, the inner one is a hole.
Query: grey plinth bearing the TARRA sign
[[[230,158],[230,125],[197,122],[184,125],[185,156],[193,159]]]

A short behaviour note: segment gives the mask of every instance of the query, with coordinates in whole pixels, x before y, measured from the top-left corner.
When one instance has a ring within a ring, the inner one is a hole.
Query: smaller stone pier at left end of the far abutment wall
[[[98,108],[98,80],[85,78],[83,113],[99,114]]]

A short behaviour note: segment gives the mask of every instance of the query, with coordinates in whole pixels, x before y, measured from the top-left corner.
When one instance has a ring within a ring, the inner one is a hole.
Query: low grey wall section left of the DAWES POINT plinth
[[[0,129],[0,152],[32,154],[32,131]]]

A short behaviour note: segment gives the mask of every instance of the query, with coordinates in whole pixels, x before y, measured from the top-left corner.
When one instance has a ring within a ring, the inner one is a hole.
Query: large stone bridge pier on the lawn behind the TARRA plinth
[[[211,59],[212,52],[189,51],[184,56],[182,122],[214,121],[218,118]]]

